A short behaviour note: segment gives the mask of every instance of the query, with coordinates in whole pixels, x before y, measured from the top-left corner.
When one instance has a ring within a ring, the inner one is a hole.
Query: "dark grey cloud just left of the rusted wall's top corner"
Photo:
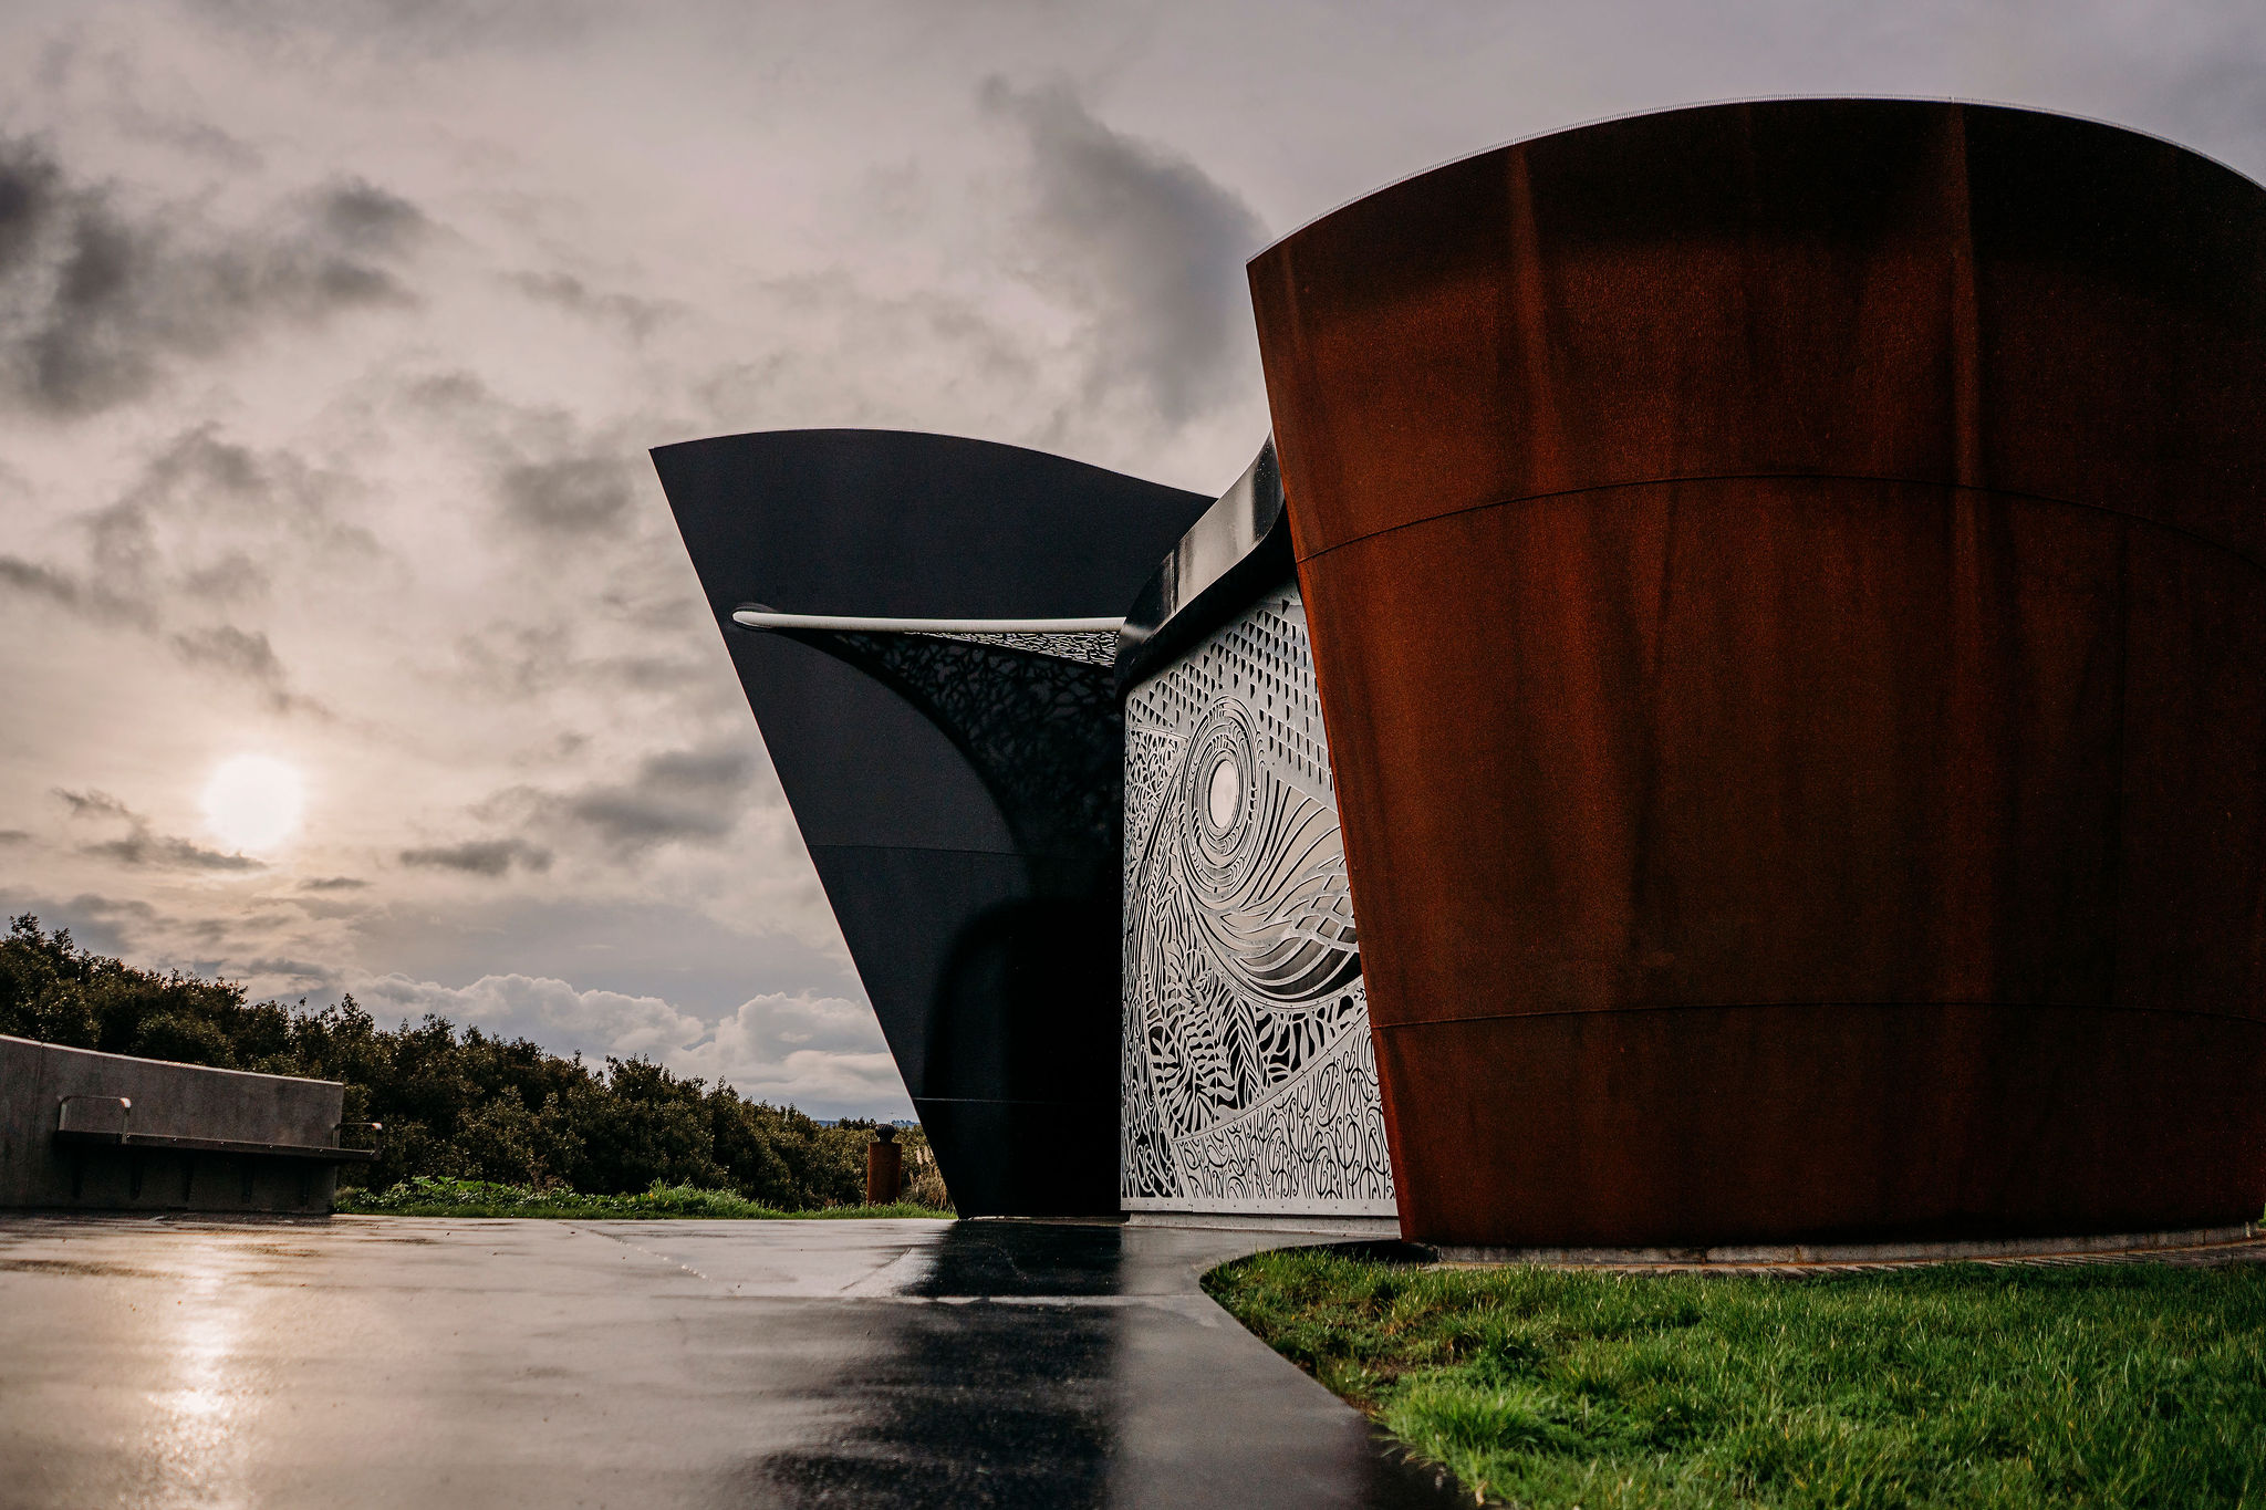
[[[1244,258],[1251,206],[1201,168],[1094,120],[1063,86],[983,86],[1031,145],[1042,283],[1094,321],[1090,396],[1131,387],[1183,423],[1258,380]]]

